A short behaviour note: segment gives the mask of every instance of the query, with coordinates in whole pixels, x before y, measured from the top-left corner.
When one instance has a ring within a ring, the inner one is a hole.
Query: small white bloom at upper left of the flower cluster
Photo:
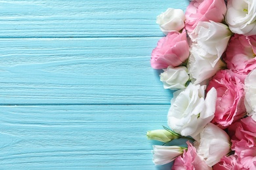
[[[167,35],[171,31],[181,31],[184,27],[185,14],[181,9],[167,9],[156,20],[161,31]]]

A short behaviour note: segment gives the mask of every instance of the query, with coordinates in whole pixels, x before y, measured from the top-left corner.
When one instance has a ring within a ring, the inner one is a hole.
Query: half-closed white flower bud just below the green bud
[[[155,165],[164,165],[182,155],[185,148],[181,146],[154,145],[153,149],[153,162]]]

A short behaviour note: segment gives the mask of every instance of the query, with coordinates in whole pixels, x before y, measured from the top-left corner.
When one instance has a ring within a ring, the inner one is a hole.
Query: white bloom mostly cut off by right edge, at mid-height
[[[256,121],[256,70],[245,78],[245,108],[248,116]]]

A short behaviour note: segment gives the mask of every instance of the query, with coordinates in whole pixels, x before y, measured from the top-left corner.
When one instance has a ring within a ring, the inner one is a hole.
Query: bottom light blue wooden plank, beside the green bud
[[[156,169],[169,106],[0,107],[0,169]]]

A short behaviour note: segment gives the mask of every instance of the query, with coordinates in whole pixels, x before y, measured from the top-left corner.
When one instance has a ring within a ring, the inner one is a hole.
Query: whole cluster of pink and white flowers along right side
[[[148,131],[156,165],[256,169],[256,1],[191,0],[157,18],[165,37],[150,60],[175,90],[169,128]],[[186,147],[171,146],[188,139]]]

